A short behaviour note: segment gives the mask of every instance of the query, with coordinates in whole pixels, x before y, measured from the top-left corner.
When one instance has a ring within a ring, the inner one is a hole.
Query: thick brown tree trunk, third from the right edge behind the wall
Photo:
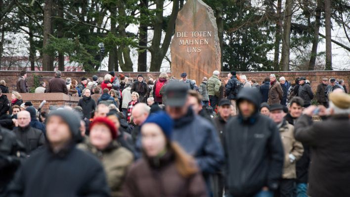
[[[286,0],[286,7],[284,11],[284,23],[283,23],[283,40],[280,68],[283,71],[289,70],[289,54],[290,54],[290,37],[291,37],[291,24],[293,14],[293,0]]]

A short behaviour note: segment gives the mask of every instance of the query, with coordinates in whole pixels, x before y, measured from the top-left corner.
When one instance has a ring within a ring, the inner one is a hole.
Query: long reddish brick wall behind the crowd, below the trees
[[[6,81],[6,86],[9,87],[10,91],[16,90],[16,81],[18,79],[20,71],[0,71],[0,80],[3,79]],[[29,87],[33,87],[33,75],[40,76],[41,80],[48,82],[53,76],[54,72],[49,71],[27,71],[27,82]],[[62,72],[62,78],[65,79],[70,77],[72,80],[77,80],[78,82],[82,77],[92,78],[92,75],[97,75],[98,77],[103,77],[108,72],[96,72],[96,73],[87,73],[87,72]],[[239,75],[246,75],[248,79],[256,79],[259,83],[263,81],[266,76],[270,76],[273,73],[277,76],[277,78],[284,76],[287,81],[292,81],[296,77],[306,77],[311,82],[312,90],[315,92],[316,87],[319,83],[321,83],[322,78],[334,77],[337,79],[343,79],[345,84],[349,90],[350,87],[350,70],[347,71],[298,71],[298,72],[239,72]],[[159,72],[123,72],[118,74],[124,74],[126,76],[130,76],[132,78],[136,78],[138,74],[142,74],[143,77],[148,80],[149,78],[157,79],[159,76]],[[221,78],[225,78],[227,76],[227,72],[221,73]],[[171,75],[171,73],[169,73]],[[175,76],[179,79],[179,76]],[[191,76],[188,76],[191,78]],[[208,76],[210,77],[210,76]],[[197,81],[197,85],[201,83]]]

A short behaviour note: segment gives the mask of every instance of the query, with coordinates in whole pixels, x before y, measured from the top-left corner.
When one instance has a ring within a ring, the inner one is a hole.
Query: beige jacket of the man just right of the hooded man
[[[298,142],[294,138],[294,126],[284,121],[279,128],[281,141],[284,149],[284,165],[283,165],[283,179],[295,179],[296,173],[296,161],[299,160],[304,152],[302,143]],[[296,160],[291,163],[289,154],[293,154]]]

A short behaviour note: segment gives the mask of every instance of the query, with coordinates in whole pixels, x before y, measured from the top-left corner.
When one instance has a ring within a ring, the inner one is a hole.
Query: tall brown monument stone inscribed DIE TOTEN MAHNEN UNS
[[[199,85],[203,77],[221,70],[221,51],[216,18],[202,0],[187,0],[178,12],[171,45],[172,75],[186,72]]]

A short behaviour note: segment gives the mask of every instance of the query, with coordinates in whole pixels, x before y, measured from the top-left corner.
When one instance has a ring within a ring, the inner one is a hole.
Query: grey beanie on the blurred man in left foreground
[[[68,109],[55,110],[50,113],[47,120],[50,119],[50,117],[52,116],[59,116],[64,122],[66,122],[66,124],[69,127],[69,130],[72,133],[72,138],[74,142],[79,143],[83,140],[79,130],[81,119],[79,118],[79,115],[76,112]]]

